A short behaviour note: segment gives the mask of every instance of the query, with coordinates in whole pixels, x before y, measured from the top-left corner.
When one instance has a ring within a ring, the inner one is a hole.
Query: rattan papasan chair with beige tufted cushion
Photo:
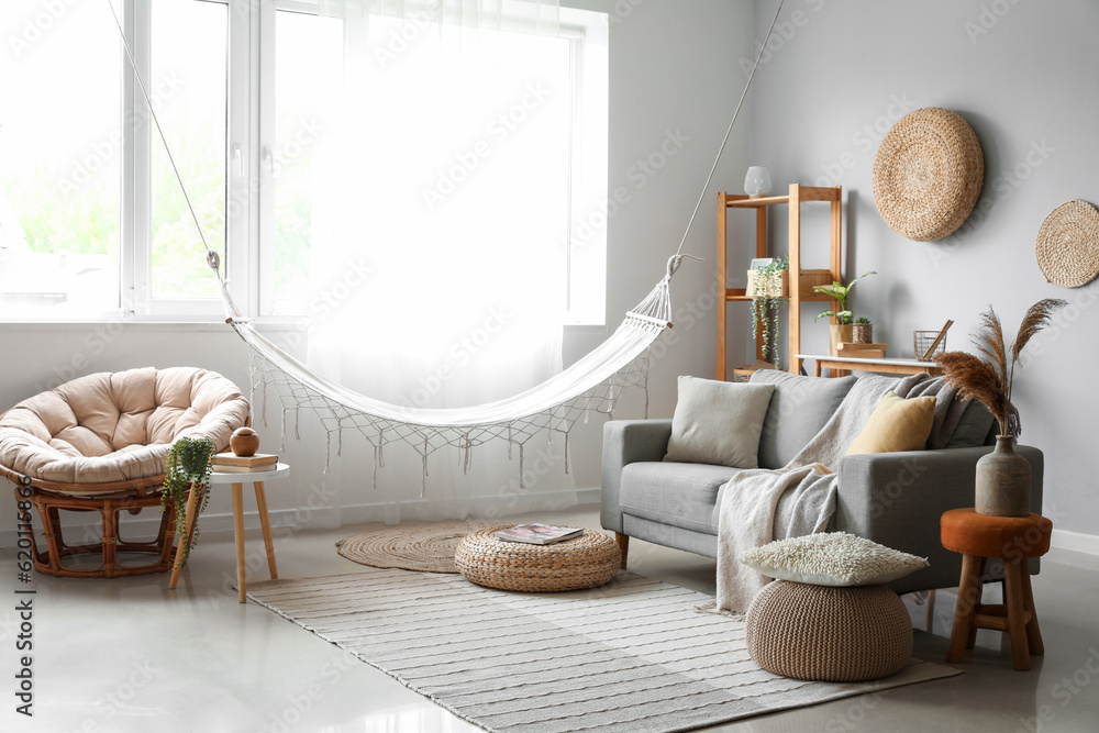
[[[171,443],[206,436],[219,451],[248,424],[248,401],[219,374],[190,367],[100,373],[74,379],[24,400],[0,415],[0,476],[16,484],[43,525],[46,551],[32,540],[34,568],[62,577],[114,578],[164,573],[173,566],[175,506],[153,541],[123,540],[123,511],[159,507],[158,489]],[[20,493],[23,496],[20,497]],[[58,510],[99,512],[102,536],[68,545]],[[144,565],[120,563],[122,553],[152,556]],[[74,555],[102,554],[98,567],[74,567]]]

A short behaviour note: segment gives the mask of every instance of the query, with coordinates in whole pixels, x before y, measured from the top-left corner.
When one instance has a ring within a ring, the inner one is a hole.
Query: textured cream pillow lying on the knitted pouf
[[[930,565],[923,557],[846,532],[776,540],[741,553],[740,560],[769,578],[813,586],[874,586]]]

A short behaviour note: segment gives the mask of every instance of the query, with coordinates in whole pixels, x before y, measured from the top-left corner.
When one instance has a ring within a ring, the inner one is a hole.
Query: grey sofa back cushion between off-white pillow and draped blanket
[[[753,374],[750,384],[775,386],[759,436],[759,466],[781,468],[790,463],[821,432],[855,381],[855,377],[801,377],[777,369]]]

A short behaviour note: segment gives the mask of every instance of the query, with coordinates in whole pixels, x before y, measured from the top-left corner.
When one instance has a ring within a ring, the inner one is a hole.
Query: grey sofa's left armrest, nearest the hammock
[[[670,420],[610,420],[603,424],[599,520],[604,530],[622,531],[622,509],[619,504],[622,468],[632,463],[664,460],[670,437]]]

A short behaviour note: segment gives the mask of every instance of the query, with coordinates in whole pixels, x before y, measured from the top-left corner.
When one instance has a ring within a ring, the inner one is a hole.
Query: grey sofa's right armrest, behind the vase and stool
[[[979,446],[846,456],[840,462],[835,529],[931,562],[931,567],[890,584],[893,590],[957,586],[961,556],[942,546],[939,521],[943,512],[974,506],[977,460],[991,451]],[[1042,452],[1020,445],[1015,453],[1030,462],[1031,511],[1041,513]]]

